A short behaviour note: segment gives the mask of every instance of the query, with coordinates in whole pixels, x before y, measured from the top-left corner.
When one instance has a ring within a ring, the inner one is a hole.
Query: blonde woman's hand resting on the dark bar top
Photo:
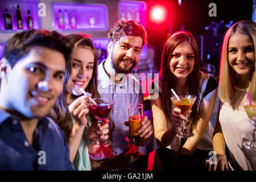
[[[226,159],[226,155],[219,155],[216,156],[216,164],[210,164],[209,160],[205,160],[205,167],[208,168],[208,171],[216,171],[217,167],[218,170],[229,171],[228,168],[228,160]]]

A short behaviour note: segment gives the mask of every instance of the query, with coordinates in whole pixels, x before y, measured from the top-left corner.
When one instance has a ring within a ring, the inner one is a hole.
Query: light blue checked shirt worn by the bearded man
[[[98,66],[98,92],[102,98],[113,98],[115,100],[113,109],[109,114],[114,126],[110,125],[109,129],[110,131],[113,130],[111,147],[114,154],[119,155],[128,146],[125,138],[129,135],[129,127],[124,124],[125,121],[128,121],[127,105],[132,103],[143,104],[143,92],[141,84],[132,74],[123,75],[122,81],[114,84],[103,68],[104,63],[105,60]]]

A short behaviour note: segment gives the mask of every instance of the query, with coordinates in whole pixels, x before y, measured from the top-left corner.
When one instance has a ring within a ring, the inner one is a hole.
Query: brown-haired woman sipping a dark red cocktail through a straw
[[[102,151],[101,146],[90,144],[98,138],[108,139],[108,123],[100,125],[89,111],[88,96],[79,88],[91,93],[93,98],[100,97],[97,91],[97,53],[92,40],[85,34],[69,34],[71,53],[71,75],[65,82],[63,93],[53,106],[49,117],[64,131],[70,148],[70,160],[76,170],[91,170],[89,154]]]

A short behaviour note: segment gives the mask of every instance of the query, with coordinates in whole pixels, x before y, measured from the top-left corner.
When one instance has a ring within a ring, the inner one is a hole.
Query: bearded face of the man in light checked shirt
[[[110,48],[116,73],[127,74],[133,70],[139,61],[142,42],[140,36],[125,36]]]

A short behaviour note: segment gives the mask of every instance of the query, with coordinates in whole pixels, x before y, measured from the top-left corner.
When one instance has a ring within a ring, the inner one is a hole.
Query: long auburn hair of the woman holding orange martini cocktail
[[[174,49],[183,42],[188,42],[191,44],[193,52],[195,53],[195,65],[193,71],[189,74],[187,84],[188,93],[197,96],[195,104],[192,107],[192,113],[189,117],[189,127],[193,130],[199,119],[197,114],[197,108],[200,106],[200,68],[199,68],[199,51],[195,38],[189,32],[176,32],[172,35],[164,44],[163,54],[162,54],[162,64],[159,75],[163,78],[163,92],[161,97],[161,105],[168,122],[171,121],[171,89],[176,90],[175,75],[170,71],[170,61],[172,59],[172,52]]]

